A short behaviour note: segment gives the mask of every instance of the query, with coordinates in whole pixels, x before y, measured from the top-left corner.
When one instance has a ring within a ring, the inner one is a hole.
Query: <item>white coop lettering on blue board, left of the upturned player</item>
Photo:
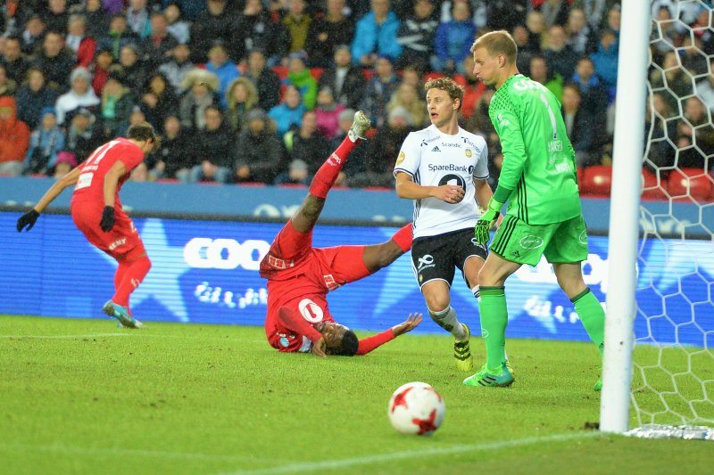
[[[235,239],[194,238],[184,246],[184,260],[196,269],[258,270],[270,250],[265,241],[249,239],[243,244]]]

